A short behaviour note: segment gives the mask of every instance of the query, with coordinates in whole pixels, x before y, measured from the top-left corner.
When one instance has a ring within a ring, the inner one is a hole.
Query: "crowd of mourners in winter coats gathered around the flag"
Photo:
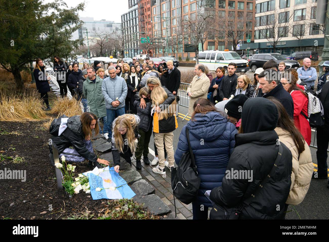
[[[36,68],[43,66],[40,61]],[[67,67],[59,57],[54,61],[58,61],[57,71]],[[207,67],[196,65],[186,92],[191,119],[182,128],[176,151],[173,131],[178,128],[180,71],[172,61],[157,69],[149,59],[140,65],[135,57],[130,66],[118,60],[116,66],[109,65],[104,71],[98,65],[85,63],[79,70],[73,63],[68,77],[69,90],[73,86],[78,89],[86,110],[81,116],[69,117],[69,130],[52,139],[70,161],[88,159],[93,167],[108,164],[95,157],[90,147],[94,130],[94,135],[99,132],[112,144],[115,171],[120,169],[120,156],[131,165],[135,153],[136,169],[141,169],[143,156],[147,165],[158,163],[152,171],[163,175],[165,167],[170,170],[175,163],[179,166],[190,142],[201,179],[198,196],[192,202],[193,219],[207,219],[207,208],[214,204],[236,207],[242,219],[284,219],[289,204],[303,201],[311,178],[328,178],[329,62],[323,65],[326,74],[319,77],[316,93],[312,92],[316,77],[308,58],[297,71],[286,69],[284,63],[268,61],[256,70],[253,80],[238,75],[234,63],[227,69],[218,67],[214,78]],[[48,89],[42,88],[41,97],[45,98]],[[325,124],[317,128],[316,136],[317,172],[313,172],[309,148],[309,92],[319,96],[324,108]],[[152,133],[156,157],[150,162]],[[52,147],[49,149],[54,163]],[[228,171],[251,174],[248,178],[232,178]]]

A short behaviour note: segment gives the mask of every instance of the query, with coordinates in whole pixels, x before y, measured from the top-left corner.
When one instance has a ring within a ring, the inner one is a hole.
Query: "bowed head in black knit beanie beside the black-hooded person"
[[[234,96],[224,106],[224,112],[227,114],[227,118],[237,129],[240,128],[242,107],[247,99],[248,97],[246,95],[239,94]]]

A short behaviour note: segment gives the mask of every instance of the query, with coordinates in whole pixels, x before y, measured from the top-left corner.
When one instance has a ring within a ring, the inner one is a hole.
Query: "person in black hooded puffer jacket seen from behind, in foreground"
[[[224,207],[240,209],[236,211],[239,219],[283,217],[291,186],[292,155],[274,130],[278,119],[276,106],[265,98],[249,98],[244,103],[241,128],[222,186],[210,192],[217,205],[210,219],[225,213]]]

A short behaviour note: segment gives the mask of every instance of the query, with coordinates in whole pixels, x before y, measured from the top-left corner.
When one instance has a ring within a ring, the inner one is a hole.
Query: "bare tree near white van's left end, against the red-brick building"
[[[214,18],[215,11],[205,10],[204,5],[199,5],[199,11],[193,18],[182,19],[178,21],[178,27],[176,27],[175,34],[182,37],[185,46],[193,47],[195,50],[195,60],[199,64],[199,43],[203,43],[210,37],[209,33],[214,31]],[[202,8],[200,8],[202,7]],[[202,47],[203,48],[203,47]]]

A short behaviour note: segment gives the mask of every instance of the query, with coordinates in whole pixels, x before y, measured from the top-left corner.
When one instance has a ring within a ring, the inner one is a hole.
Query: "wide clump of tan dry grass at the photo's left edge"
[[[36,96],[19,96],[0,91],[0,121],[39,121],[46,118],[43,103]]]

